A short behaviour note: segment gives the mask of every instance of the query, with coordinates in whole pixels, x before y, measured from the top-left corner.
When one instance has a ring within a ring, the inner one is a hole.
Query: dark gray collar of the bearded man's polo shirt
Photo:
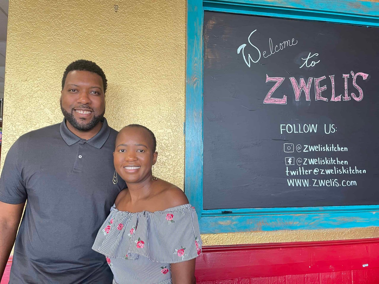
[[[89,145],[96,147],[100,149],[103,147],[106,139],[108,139],[109,134],[111,133],[111,128],[108,126],[108,123],[106,122],[106,118],[104,117],[104,120],[102,121],[103,125],[101,126],[100,131],[91,139],[86,140],[85,142]],[[66,142],[68,146],[74,145],[75,143],[79,142],[81,139],[80,137],[76,136],[74,133],[72,133],[69,128],[66,125],[66,119],[63,119],[60,127],[59,127],[61,136]]]

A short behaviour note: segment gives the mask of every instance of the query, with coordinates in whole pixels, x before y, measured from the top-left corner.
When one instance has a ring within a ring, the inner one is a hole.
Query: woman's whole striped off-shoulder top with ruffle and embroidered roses
[[[105,255],[114,284],[169,284],[170,264],[194,259],[201,246],[190,204],[138,213],[113,205],[92,250]]]

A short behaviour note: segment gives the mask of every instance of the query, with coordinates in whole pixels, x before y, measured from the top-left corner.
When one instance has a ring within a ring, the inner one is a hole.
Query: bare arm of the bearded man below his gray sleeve
[[[0,201],[0,279],[16,239],[24,205],[25,202],[8,204]]]

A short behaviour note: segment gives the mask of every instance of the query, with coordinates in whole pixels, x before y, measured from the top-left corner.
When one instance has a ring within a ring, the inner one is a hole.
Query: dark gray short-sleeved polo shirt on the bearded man
[[[125,182],[113,184],[117,131],[106,122],[89,140],[66,121],[22,135],[9,149],[0,201],[27,201],[9,284],[112,283],[105,257],[91,249]]]

